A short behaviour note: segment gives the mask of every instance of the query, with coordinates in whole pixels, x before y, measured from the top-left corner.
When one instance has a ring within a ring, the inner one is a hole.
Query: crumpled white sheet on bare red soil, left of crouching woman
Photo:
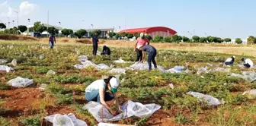
[[[12,87],[28,87],[33,84],[33,79],[17,77],[8,81]]]

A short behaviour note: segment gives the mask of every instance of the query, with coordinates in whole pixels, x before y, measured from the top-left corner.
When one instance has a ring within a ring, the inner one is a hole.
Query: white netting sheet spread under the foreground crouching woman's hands
[[[142,103],[129,100],[125,102],[122,106],[123,113],[113,116],[99,102],[88,102],[88,104],[83,107],[83,109],[87,109],[88,112],[90,112],[91,115],[93,115],[98,122],[119,121],[124,118],[130,118],[131,116],[136,116],[139,118],[149,118],[154,112],[156,112],[160,108],[161,106],[158,106],[154,103],[142,105]]]

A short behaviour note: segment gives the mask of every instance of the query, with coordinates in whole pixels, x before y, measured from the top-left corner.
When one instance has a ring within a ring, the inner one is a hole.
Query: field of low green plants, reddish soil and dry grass
[[[58,40],[58,39],[57,39]],[[73,41],[74,40],[74,41]],[[131,64],[113,64],[122,57],[125,61],[134,61],[136,53],[133,42],[102,41],[102,45],[111,46],[111,56],[91,56],[91,46],[75,43],[75,39],[56,44],[50,50],[46,40],[40,41],[0,41],[0,58],[11,61],[16,58],[18,65],[11,73],[0,72],[0,125],[40,125],[46,115],[74,113],[88,125],[98,124],[88,111],[82,109],[85,100],[85,87],[107,71],[86,68],[75,69],[80,64],[78,55],[89,55],[96,64],[114,65],[114,68],[129,67]],[[242,55],[248,55],[254,62],[255,46],[226,46],[213,44],[153,44],[157,47],[156,61],[164,68],[175,65],[189,65],[190,74],[171,74],[162,71],[126,71],[120,76],[120,101],[130,99],[135,102],[157,103],[162,106],[151,118],[129,118],[117,121],[118,124],[138,125],[255,125],[256,100],[242,95],[246,90],[256,87],[256,83],[229,77],[230,73],[239,74],[248,71],[238,68]],[[116,48],[123,47],[123,48]],[[125,47],[125,48],[124,48]],[[77,54],[75,49],[79,49]],[[101,49],[99,49],[101,51]],[[188,52],[189,51],[189,52]],[[39,59],[39,55],[45,58]],[[230,73],[210,72],[197,74],[197,67],[220,66],[229,56],[236,55],[235,65]],[[49,70],[55,75],[46,75]],[[255,71],[250,69],[249,71]],[[114,74],[115,75],[115,74]],[[15,77],[27,77],[34,80],[34,85],[14,89],[6,85]],[[43,83],[46,90],[38,90]],[[173,83],[174,89],[169,87]],[[226,103],[222,106],[206,106],[205,102],[186,95],[189,91],[208,94]],[[75,92],[75,96],[72,96]],[[110,104],[113,104],[110,102]]]

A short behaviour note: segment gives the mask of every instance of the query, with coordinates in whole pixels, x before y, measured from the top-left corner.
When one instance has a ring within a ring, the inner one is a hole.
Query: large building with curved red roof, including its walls
[[[155,36],[173,36],[177,32],[175,30],[171,30],[171,28],[168,27],[144,27],[144,28],[136,28],[136,29],[128,29],[128,30],[122,30],[119,33],[146,33],[149,36],[152,36],[152,38],[155,38]]]

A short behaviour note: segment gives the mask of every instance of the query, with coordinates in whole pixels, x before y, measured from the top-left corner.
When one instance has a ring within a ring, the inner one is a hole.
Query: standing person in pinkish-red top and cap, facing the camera
[[[136,44],[134,46],[134,51],[137,54],[136,61],[142,61],[142,51],[139,50],[139,46],[149,45],[149,39],[144,36],[144,33],[140,33],[139,38],[136,39]]]

